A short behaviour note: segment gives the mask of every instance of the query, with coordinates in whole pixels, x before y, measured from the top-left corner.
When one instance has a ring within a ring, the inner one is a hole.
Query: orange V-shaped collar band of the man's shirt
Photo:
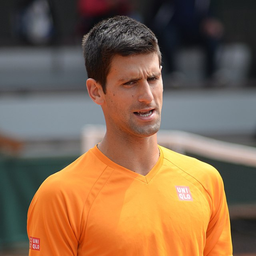
[[[158,148],[159,148],[159,152],[160,152],[159,159],[157,160],[157,163],[153,166],[153,168],[146,175],[138,174],[136,172],[133,172],[133,171],[113,162],[108,157],[106,157],[105,154],[103,154],[99,150],[99,148],[97,148],[97,145],[95,145],[93,148],[91,148],[91,151],[93,154],[96,155],[96,157],[99,158],[99,160],[101,160],[107,166],[109,166],[117,171],[120,171],[125,175],[134,177],[135,179],[140,180],[144,183],[149,183],[151,181],[151,179],[157,174],[158,170],[160,169],[160,167],[162,166],[162,163],[163,163],[163,152],[159,146],[158,146]]]

